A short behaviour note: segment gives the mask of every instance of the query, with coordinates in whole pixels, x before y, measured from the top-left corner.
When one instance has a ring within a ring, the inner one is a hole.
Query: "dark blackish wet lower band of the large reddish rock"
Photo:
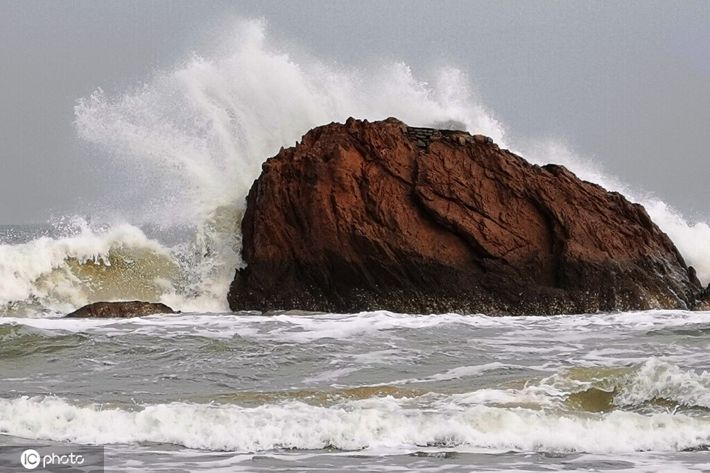
[[[332,263],[332,261],[330,261]],[[420,276],[430,270],[424,288],[397,287],[398,282],[411,284],[408,277],[391,278],[389,285],[353,287],[347,281],[314,283],[306,276],[310,271],[301,268],[304,283],[297,288],[282,286],[280,290],[258,293],[241,286],[244,279],[237,279],[232,286],[231,300],[236,310],[305,310],[310,312],[354,313],[371,310],[388,310],[409,314],[459,313],[486,315],[559,315],[586,314],[594,312],[648,310],[655,308],[710,310],[692,307],[674,298],[668,288],[652,278],[644,278],[638,268],[608,262],[608,265],[577,266],[586,280],[598,279],[596,290],[574,286],[577,273],[571,281],[559,281],[560,286],[551,288],[535,286],[524,281],[514,281],[516,276],[509,268],[501,266],[469,280],[461,281],[460,274],[450,268],[418,268]],[[633,266],[633,265],[628,265]],[[426,268],[426,269],[425,269]],[[246,270],[243,270],[246,272]],[[376,271],[376,268],[373,268]],[[594,276],[592,276],[594,275]],[[246,275],[245,275],[246,276]],[[389,275],[391,276],[391,275]],[[448,277],[447,277],[448,276]],[[248,276],[247,276],[248,277]],[[385,279],[385,278],[382,278]],[[382,280],[381,279],[381,280]],[[416,280],[417,278],[415,278]],[[646,279],[643,281],[643,279]],[[603,283],[601,283],[603,280]],[[356,281],[349,279],[348,281]],[[419,281],[422,281],[421,279]],[[566,287],[565,287],[566,286]],[[323,288],[328,288],[324,290]]]

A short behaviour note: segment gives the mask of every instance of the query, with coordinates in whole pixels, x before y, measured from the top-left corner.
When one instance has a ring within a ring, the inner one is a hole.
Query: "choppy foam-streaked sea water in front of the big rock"
[[[0,445],[124,472],[710,469],[710,312],[0,317]]]

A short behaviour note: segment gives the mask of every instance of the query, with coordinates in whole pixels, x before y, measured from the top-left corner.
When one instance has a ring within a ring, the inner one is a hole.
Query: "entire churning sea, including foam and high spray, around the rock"
[[[348,116],[465,127],[568,165],[643,203],[710,281],[708,224],[558,144],[510,142],[461,72],[296,60],[247,22],[75,112],[106,195],[0,227],[0,445],[105,445],[109,470],[135,472],[710,470],[709,312],[228,311],[261,163]],[[132,299],[184,313],[61,318]]]

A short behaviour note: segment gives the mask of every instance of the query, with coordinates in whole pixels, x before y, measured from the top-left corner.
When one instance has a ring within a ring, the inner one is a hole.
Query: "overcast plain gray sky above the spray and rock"
[[[77,99],[136,87],[231,17],[266,18],[280,44],[324,61],[457,65],[516,138],[564,141],[687,216],[710,214],[708,1],[0,0],[0,224],[100,195]]]

